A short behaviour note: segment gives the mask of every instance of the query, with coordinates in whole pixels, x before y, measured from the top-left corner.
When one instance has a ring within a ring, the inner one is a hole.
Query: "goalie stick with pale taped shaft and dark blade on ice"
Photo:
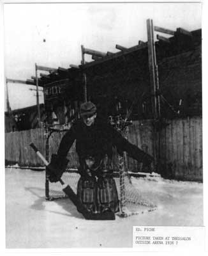
[[[43,161],[45,166],[48,166],[48,161],[45,159],[45,157],[41,154],[41,152],[36,148],[34,143],[30,143],[31,148],[33,148],[34,152],[36,152],[36,155],[40,157],[40,159]],[[50,172],[55,174],[53,170],[49,169]],[[82,213],[84,218],[86,220],[115,220],[115,214],[114,212],[99,212],[99,213],[92,213],[87,211],[87,209],[84,207],[82,202],[80,201],[80,198],[75,194],[73,189],[68,184],[64,184],[63,180],[60,178],[59,182],[62,185],[62,189],[64,193],[70,198],[71,202],[77,207],[78,212]]]

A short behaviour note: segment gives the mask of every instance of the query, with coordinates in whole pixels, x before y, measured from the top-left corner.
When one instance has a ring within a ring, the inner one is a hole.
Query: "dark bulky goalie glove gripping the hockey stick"
[[[50,182],[57,182],[61,179],[64,170],[68,164],[68,159],[61,158],[56,154],[52,154],[50,163],[47,166],[47,173],[49,176]]]

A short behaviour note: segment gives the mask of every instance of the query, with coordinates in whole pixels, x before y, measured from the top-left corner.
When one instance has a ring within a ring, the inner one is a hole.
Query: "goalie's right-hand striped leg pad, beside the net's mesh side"
[[[112,177],[100,177],[98,179],[97,193],[101,211],[105,211],[105,209],[110,209],[112,212],[119,211],[117,188]]]

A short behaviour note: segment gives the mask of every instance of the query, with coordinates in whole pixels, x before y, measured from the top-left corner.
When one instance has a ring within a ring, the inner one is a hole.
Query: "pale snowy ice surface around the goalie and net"
[[[132,247],[135,225],[202,226],[203,184],[133,178],[152,212],[84,220],[69,199],[45,200],[45,172],[6,168],[6,248]]]

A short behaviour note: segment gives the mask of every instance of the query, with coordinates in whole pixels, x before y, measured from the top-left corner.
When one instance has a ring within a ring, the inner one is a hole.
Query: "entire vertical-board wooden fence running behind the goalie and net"
[[[54,132],[50,137],[49,156],[57,151],[63,134],[63,132]],[[153,139],[152,120],[135,121],[129,127],[128,140],[145,152],[151,155],[156,154],[161,163],[158,171],[163,177],[202,181],[202,118],[167,120],[167,126],[158,133],[156,141]],[[45,152],[43,129],[6,133],[6,164],[42,166],[40,159],[29,147],[31,141],[40,148],[41,152]],[[156,148],[154,148],[154,143],[156,143]],[[68,159],[70,159],[71,168],[78,166],[75,145],[70,149]],[[114,152],[114,168],[118,168],[117,164],[117,153]],[[140,170],[140,164],[130,158],[127,159],[127,166],[128,170],[133,172]]]

